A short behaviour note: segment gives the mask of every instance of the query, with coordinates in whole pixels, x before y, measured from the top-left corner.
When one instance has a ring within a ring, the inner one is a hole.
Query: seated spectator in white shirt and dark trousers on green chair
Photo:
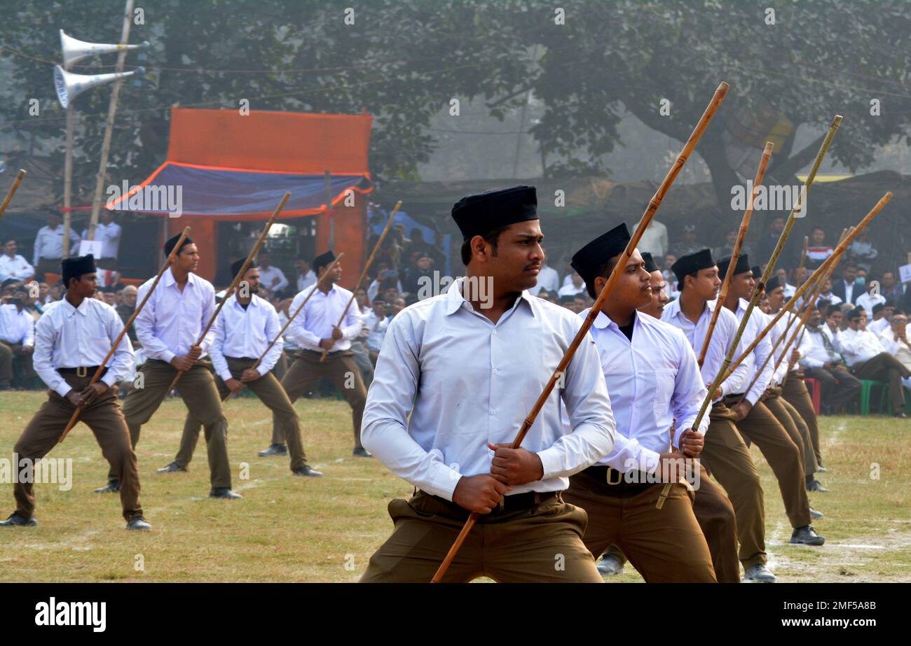
[[[863,308],[848,313],[848,328],[838,335],[842,356],[857,379],[887,382],[893,414],[896,418],[906,418],[902,379],[911,377],[911,370],[883,348],[879,338],[865,328],[865,323]]]

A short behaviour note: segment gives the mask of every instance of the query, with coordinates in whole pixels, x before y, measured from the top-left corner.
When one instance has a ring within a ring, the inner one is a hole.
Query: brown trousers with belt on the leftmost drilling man
[[[87,377],[62,375],[67,384],[77,392],[85,389],[92,379]],[[13,451],[19,459],[38,460],[44,458],[56,446],[57,440],[67,428],[76,407],[66,398],[60,397],[55,390],[47,391],[47,401],[28,422],[15,443]],[[133,520],[142,516],[139,506],[139,474],[136,466],[136,453],[129,442],[127,423],[120,411],[117,390],[107,392],[95,399],[79,413],[79,421],[84,422],[95,435],[101,454],[111,465],[114,477],[120,481],[120,504],[123,517]],[[35,495],[31,482],[17,482],[13,489],[15,512],[23,518],[31,518],[35,513]]]

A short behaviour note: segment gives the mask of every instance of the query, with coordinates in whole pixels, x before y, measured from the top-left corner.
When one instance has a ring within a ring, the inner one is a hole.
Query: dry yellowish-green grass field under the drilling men
[[[0,393],[0,457],[8,458],[43,393]],[[36,485],[36,528],[0,531],[0,580],[7,581],[356,581],[392,530],[386,504],[411,487],[375,459],[351,455],[351,414],[343,401],[299,400],[304,446],[322,479],[292,476],[286,458],[259,458],[271,415],[256,399],[226,405],[234,490],[243,500],[210,500],[200,439],[189,473],[159,475],[173,459],[186,409],[170,399],[142,430],[141,501],[151,532],[128,532],[119,499],[93,494],[107,463],[91,432],[77,426],[51,458],[73,459],[73,486]],[[811,504],[822,548],[788,544],[791,528],[772,472],[759,451],[766,543],[780,581],[911,580],[911,420],[822,418],[820,479],[832,491]],[[241,463],[249,479],[240,479]],[[876,470],[878,469],[878,479]],[[0,514],[15,508],[0,484]],[[141,566],[141,568],[140,568]],[[628,565],[609,581],[640,581]]]

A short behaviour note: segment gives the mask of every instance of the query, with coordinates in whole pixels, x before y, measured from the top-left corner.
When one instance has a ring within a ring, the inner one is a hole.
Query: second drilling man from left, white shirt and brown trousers
[[[164,247],[166,255],[177,245],[179,236],[171,237]],[[215,288],[194,272],[200,263],[196,244],[184,238],[170,267],[161,276],[136,318],[136,336],[142,343],[146,362],[138,368],[142,387],[131,389],[123,403],[130,439],[135,447],[139,429],[161,403],[168,397],[169,386],[179,372],[177,385],[180,399],[187,405],[190,415],[200,420],[205,429],[209,449],[210,498],[237,499],[240,494],[230,489],[230,463],[228,461],[228,420],[221,410],[219,390],[210,372],[210,359],[206,358],[215,329],[210,328],[200,345],[197,341],[202,330],[215,313]],[[152,287],[149,278],[139,287],[137,298],[141,303]],[[117,486],[116,479],[108,476],[107,487]]]

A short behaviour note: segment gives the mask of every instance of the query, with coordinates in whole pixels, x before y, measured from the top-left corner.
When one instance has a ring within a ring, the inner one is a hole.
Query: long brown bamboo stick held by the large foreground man
[[[551,375],[548,380],[548,384],[544,387],[544,390],[541,392],[540,396],[535,402],[535,406],[531,409],[531,412],[528,414],[528,417],[522,423],[522,427],[519,429],[516,439],[513,441],[513,449],[517,449],[521,444],[522,440],[525,439],[525,436],[528,432],[528,429],[531,428],[531,425],[535,423],[537,418],[537,413],[544,407],[545,402],[550,397],[550,393],[553,391],[554,386],[557,384],[558,379],[564,374],[569,361],[572,360],[573,355],[576,353],[576,349],[579,344],[582,342],[582,339],[585,338],[585,335],[588,334],[589,328],[595,321],[595,318],[598,316],[601,307],[604,305],[611,291],[613,291],[614,286],[619,280],[622,267],[625,267],[627,262],[630,260],[632,252],[635,250],[636,245],[639,244],[640,238],[645,233],[645,229],[649,227],[652,217],[654,217],[655,212],[660,207],[661,200],[664,199],[664,196],[667,194],[670,186],[673,184],[674,179],[680,173],[681,168],[686,164],[686,160],[689,158],[693,148],[696,147],[696,144],[699,142],[702,133],[705,132],[705,129],[709,126],[711,118],[715,116],[715,113],[718,111],[718,107],[721,106],[724,96],[728,93],[729,86],[727,83],[723,83],[718,86],[715,90],[714,96],[711,97],[709,105],[705,108],[705,112],[702,113],[699,123],[696,124],[696,127],[693,129],[690,138],[687,139],[686,144],[681,150],[681,154],[677,156],[676,161],[664,180],[661,182],[660,187],[655,192],[655,195],[651,198],[649,206],[646,207],[645,213],[642,214],[642,217],[639,221],[639,226],[636,227],[635,232],[630,238],[630,243],[624,249],[623,253],[617,260],[617,264],[614,266],[613,270],[610,272],[608,282],[605,284],[604,288],[601,289],[598,298],[595,300],[595,304],[591,306],[588,316],[583,320],[581,328],[579,328],[576,337],[573,338],[572,342],[567,348],[566,354],[563,355],[563,358],[560,359],[560,362],[557,366],[557,369],[554,370],[554,374]],[[445,559],[440,564],[438,570],[434,575],[434,578],[431,580],[432,583],[438,583],[445,574],[446,569],[449,567],[449,564],[455,559],[455,555],[458,553],[459,548],[462,547],[462,543],[465,542],[468,532],[471,531],[471,528],[475,526],[477,519],[480,517],[476,511],[473,511],[471,515],[466,520],[465,525],[462,527],[462,530],[459,532],[458,536],[453,543],[452,548],[446,554]]]

